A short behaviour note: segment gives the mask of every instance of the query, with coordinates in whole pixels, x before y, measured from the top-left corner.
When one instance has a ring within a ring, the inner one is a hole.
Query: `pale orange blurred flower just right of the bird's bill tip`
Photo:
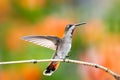
[[[102,34],[103,24],[99,20],[91,20],[83,28],[83,35],[87,42],[99,41]]]

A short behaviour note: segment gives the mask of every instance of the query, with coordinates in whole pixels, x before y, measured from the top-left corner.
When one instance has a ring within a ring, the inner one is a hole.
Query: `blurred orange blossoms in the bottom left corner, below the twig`
[[[40,69],[36,66],[24,65],[23,68],[0,70],[0,80],[40,80]]]

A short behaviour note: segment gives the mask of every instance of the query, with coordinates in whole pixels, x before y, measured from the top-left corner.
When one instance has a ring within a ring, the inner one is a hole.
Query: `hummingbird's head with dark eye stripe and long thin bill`
[[[68,25],[65,27],[65,34],[66,34],[66,33],[72,34],[73,31],[75,30],[75,28],[76,28],[77,26],[84,25],[84,24],[86,24],[86,23],[68,24]]]

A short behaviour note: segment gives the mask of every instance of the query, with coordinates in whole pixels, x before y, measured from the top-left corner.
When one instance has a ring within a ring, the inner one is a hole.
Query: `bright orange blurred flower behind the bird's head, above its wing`
[[[34,30],[41,35],[56,35],[58,37],[62,37],[64,28],[71,22],[71,20],[67,19],[48,17],[40,23],[38,27],[35,27]],[[39,29],[39,26],[41,26],[42,29]]]

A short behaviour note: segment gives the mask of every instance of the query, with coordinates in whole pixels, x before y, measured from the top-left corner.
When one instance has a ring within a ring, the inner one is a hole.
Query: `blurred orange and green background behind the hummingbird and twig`
[[[1,0],[0,61],[49,59],[54,51],[20,37],[62,37],[65,25],[80,22],[87,24],[75,30],[70,58],[98,63],[120,74],[119,0]],[[64,62],[47,77],[42,74],[47,65],[0,65],[0,80],[114,80],[101,70]]]

